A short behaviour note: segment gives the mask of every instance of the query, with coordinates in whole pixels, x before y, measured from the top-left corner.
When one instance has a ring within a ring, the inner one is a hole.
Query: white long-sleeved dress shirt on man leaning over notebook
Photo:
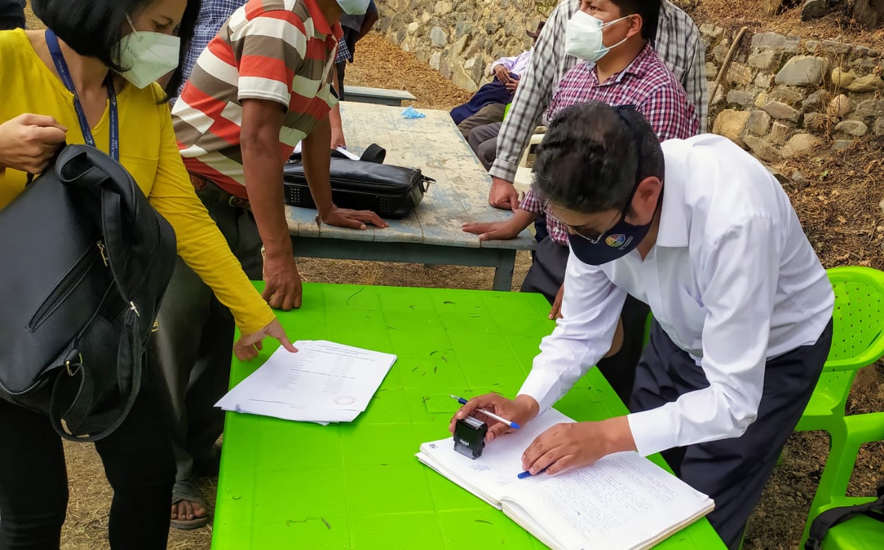
[[[593,267],[572,252],[564,319],[520,394],[545,411],[610,348],[626,294],[651,306],[709,387],[629,415],[642,455],[739,437],[758,414],[766,359],[815,343],[834,294],[789,197],[751,154],[712,134],[670,139],[657,243]]]

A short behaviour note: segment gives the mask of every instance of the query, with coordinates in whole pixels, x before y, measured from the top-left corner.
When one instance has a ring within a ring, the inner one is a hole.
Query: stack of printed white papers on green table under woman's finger
[[[215,403],[225,411],[328,424],[351,422],[369,406],[396,356],[324,340],[279,348]]]

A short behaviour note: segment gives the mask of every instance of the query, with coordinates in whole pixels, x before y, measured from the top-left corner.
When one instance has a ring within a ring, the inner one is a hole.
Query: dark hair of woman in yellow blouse
[[[120,67],[115,59],[119,58],[122,29],[127,27],[126,15],[131,17],[154,2],[156,0],[32,0],[31,7],[34,15],[80,56],[97,57],[111,70],[125,72],[129,67]],[[181,67],[194,37],[200,4],[202,0],[187,0],[177,33],[181,39],[179,64],[165,87],[166,100],[181,86]]]

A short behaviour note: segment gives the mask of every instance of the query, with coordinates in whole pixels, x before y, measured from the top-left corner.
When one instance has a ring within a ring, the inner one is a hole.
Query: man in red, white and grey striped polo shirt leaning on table
[[[282,182],[283,164],[299,141],[322,222],[354,230],[387,225],[373,212],[336,207],[329,181],[339,19],[345,9],[364,12],[368,2],[248,0],[197,58],[172,109],[179,152],[197,195],[246,274],[263,278],[263,296],[274,308],[301,305]],[[159,323],[156,352],[149,357],[158,361],[171,394],[187,395],[176,411],[175,428],[186,425],[187,436],[179,441],[172,495],[183,506],[173,505],[172,517],[175,526],[190,529],[208,521],[202,495],[187,479],[187,462],[202,462],[224,426],[212,405],[227,388],[232,317],[179,263]],[[200,426],[191,416],[200,417]]]

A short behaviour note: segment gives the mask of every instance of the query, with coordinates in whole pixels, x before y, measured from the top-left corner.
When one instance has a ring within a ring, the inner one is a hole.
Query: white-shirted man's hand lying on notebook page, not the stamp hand
[[[636,450],[636,442],[625,416],[600,422],[557,424],[538,435],[525,449],[522,468],[531,475],[543,470],[556,474],[628,450]]]

